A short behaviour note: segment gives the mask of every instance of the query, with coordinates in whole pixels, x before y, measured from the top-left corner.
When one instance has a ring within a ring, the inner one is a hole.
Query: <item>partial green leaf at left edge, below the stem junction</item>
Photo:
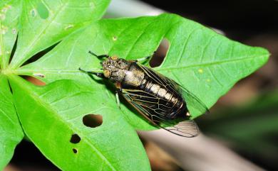
[[[11,160],[14,148],[24,137],[12,99],[8,79],[0,75],[0,170]]]

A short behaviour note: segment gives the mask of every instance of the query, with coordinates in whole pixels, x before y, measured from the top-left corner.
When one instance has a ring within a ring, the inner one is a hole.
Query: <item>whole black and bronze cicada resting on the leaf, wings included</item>
[[[121,94],[154,126],[179,136],[197,136],[199,128],[194,121],[188,120],[190,113],[187,103],[193,104],[195,111],[202,114],[207,112],[207,107],[173,79],[140,65],[138,61],[146,60],[148,57],[140,60],[124,60],[108,55],[96,55],[91,51],[89,53],[99,59],[105,59],[101,62],[103,72],[79,70],[113,82],[117,88],[118,106],[120,105],[118,94]]]

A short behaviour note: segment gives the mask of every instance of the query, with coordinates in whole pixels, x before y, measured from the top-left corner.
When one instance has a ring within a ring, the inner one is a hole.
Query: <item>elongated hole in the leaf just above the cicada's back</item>
[[[169,41],[166,38],[160,42],[158,50],[153,54],[152,59],[150,59],[150,67],[158,67],[162,64],[169,49]]]

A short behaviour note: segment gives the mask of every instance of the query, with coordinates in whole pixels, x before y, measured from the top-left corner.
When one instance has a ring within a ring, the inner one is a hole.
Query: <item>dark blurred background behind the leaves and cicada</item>
[[[112,0],[106,18],[177,13],[232,40],[267,48],[264,67],[242,79],[197,118],[197,138],[165,131],[139,132],[152,170],[278,170],[278,1]],[[156,56],[163,58],[165,46]],[[165,136],[168,136],[167,140]],[[28,158],[26,158],[28,154]],[[5,171],[58,170],[27,141],[18,145]]]

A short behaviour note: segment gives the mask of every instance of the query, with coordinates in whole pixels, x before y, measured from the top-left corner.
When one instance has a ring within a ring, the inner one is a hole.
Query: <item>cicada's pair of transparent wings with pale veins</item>
[[[187,91],[187,89],[181,87],[173,79],[160,75],[158,72],[143,65],[139,66],[153,82],[156,82],[156,84],[160,84],[161,87],[165,87],[165,89],[173,92],[173,94],[182,94],[186,104],[188,103],[190,106],[193,105],[198,112],[203,114],[207,111],[207,107],[200,99]],[[170,120],[167,118],[168,114],[175,112],[174,109],[165,105],[168,101],[139,89],[122,89],[122,93],[124,98],[137,109],[140,114],[147,118],[148,121],[153,123],[154,126],[163,128],[178,136],[195,137],[198,135],[199,128],[195,121],[184,121],[186,117],[183,120]]]

